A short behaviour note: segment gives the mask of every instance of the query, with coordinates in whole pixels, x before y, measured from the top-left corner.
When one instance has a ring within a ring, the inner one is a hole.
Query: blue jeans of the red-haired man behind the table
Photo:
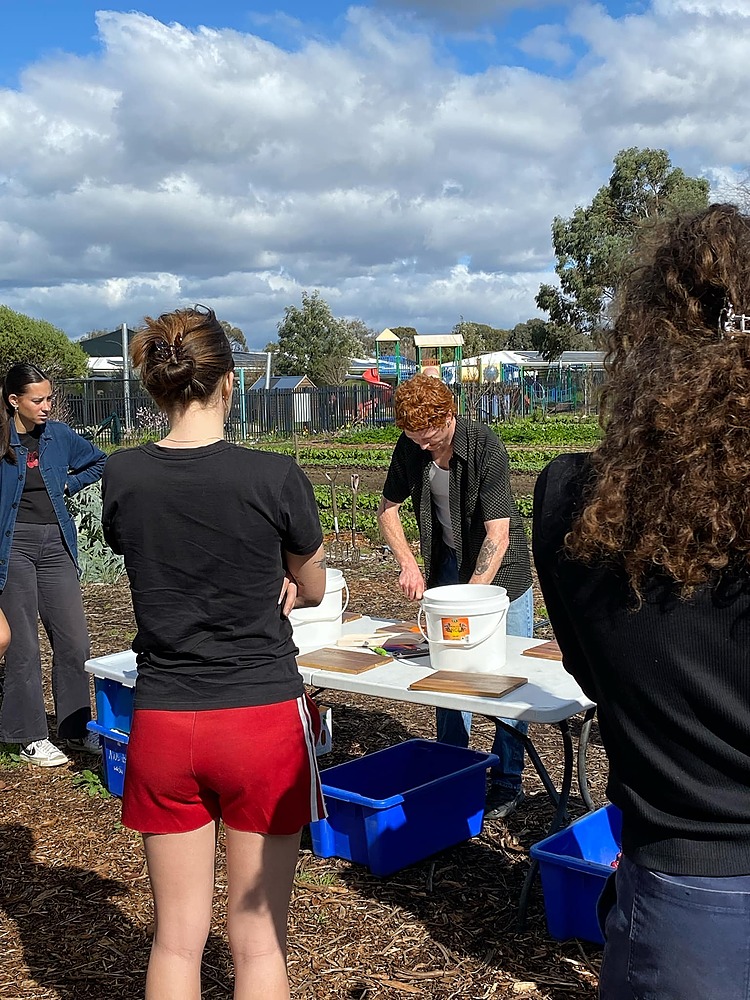
[[[436,573],[438,587],[458,583],[458,566],[456,554],[450,549],[444,550],[443,561]],[[534,594],[529,589],[511,601],[505,623],[508,635],[531,637],[534,634]],[[437,738],[441,743],[449,743],[454,747],[468,747],[471,733],[471,712],[459,712],[454,708],[438,708]],[[507,725],[526,733],[529,725],[517,719],[503,719]],[[498,764],[490,770],[490,781],[516,793],[521,790],[521,773],[523,771],[523,744],[515,736],[511,736],[501,726],[495,726],[495,739],[492,752],[500,758]]]

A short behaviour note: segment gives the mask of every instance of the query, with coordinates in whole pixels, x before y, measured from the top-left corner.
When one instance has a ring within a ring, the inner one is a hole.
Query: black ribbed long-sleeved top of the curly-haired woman
[[[750,573],[635,598],[617,564],[562,553],[591,475],[563,455],[534,492],[534,559],[563,662],[597,703],[623,851],[671,874],[750,874]]]

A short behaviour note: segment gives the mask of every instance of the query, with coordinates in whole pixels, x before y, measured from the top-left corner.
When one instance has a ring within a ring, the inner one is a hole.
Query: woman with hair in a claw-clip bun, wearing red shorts
[[[300,831],[324,815],[287,617],[325,592],[317,506],[291,459],[224,440],[234,362],[212,310],[147,318],[131,354],[169,419],[103,484],[138,626],[123,823],[143,834],[154,894],[146,998],[200,996],[221,820],[234,996],[286,1000]]]

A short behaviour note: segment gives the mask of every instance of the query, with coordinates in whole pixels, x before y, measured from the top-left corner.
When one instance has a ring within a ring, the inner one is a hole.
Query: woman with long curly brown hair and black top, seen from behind
[[[622,858],[606,1000],[750,997],[750,218],[677,217],[625,283],[603,440],[534,494],[565,667],[597,702]]]

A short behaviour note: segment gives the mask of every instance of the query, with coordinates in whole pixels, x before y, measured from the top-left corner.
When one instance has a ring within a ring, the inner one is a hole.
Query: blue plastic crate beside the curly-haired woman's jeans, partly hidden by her
[[[596,904],[614,871],[622,842],[622,813],[617,806],[582,816],[565,830],[531,848],[539,862],[547,929],[553,938],[581,938],[604,944]]]

